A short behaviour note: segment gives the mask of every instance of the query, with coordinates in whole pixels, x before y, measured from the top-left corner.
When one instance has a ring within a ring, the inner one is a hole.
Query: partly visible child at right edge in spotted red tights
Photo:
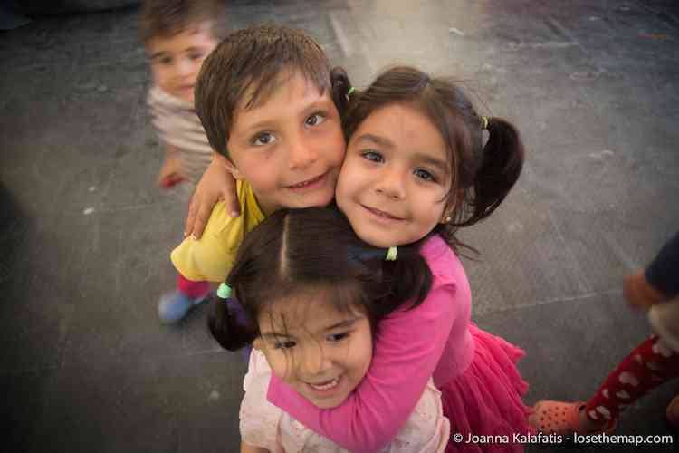
[[[562,435],[612,431],[629,405],[679,376],[679,232],[645,271],[625,278],[623,293],[631,305],[650,309],[655,334],[636,346],[587,402],[538,401],[531,415],[535,429]],[[665,415],[679,428],[679,396]]]

